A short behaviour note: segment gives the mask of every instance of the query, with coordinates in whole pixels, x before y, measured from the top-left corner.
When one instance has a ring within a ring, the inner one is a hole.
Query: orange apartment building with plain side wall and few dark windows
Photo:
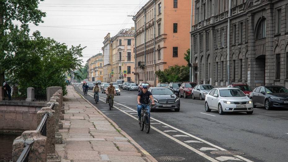
[[[190,48],[190,16],[191,0],[150,0],[137,12],[137,82],[155,86],[155,71],[187,64],[184,53]]]

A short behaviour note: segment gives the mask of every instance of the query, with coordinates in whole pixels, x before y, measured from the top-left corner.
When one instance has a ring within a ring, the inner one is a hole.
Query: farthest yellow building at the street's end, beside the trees
[[[93,82],[97,80],[103,81],[103,54],[99,53],[87,60],[88,80]]]

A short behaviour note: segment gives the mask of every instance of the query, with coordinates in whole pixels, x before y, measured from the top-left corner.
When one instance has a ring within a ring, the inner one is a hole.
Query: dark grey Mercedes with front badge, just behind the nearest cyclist
[[[171,89],[166,87],[151,87],[148,91],[152,93],[155,102],[155,105],[151,106],[151,111],[157,109],[174,109],[177,112],[180,111],[180,99]]]

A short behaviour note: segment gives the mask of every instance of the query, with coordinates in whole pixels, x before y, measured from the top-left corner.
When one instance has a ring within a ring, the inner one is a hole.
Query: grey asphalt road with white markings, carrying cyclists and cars
[[[79,86],[80,87],[80,86]],[[75,90],[83,94],[78,86]],[[92,95],[92,90],[89,94]],[[121,89],[110,111],[104,103],[106,94],[99,93],[97,105],[85,96],[153,157],[178,156],[183,161],[288,161],[288,109],[254,109],[252,115],[217,111],[207,113],[204,101],[181,98],[180,112],[151,112],[149,134],[139,130],[136,114],[138,92]],[[241,156],[214,155],[214,150],[243,152]]]

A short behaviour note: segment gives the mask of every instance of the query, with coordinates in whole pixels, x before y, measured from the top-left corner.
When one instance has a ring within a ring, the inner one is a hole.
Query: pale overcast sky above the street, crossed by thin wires
[[[89,57],[101,52],[107,33],[134,27],[132,17],[149,0],[45,0],[39,9],[46,12],[44,23],[30,25],[31,33],[40,31],[44,37],[60,43],[87,46],[83,65]]]

